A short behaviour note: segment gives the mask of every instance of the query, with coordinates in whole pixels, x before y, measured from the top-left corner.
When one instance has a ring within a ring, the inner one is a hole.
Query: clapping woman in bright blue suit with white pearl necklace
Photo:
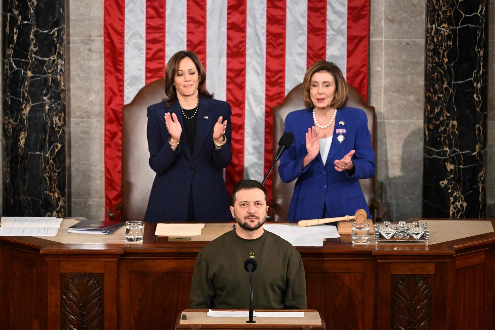
[[[289,113],[285,132],[294,143],[280,158],[284,182],[297,179],[288,221],[353,215],[371,219],[359,179],[375,174],[366,114],[347,107],[347,84],[332,62],[318,61],[304,75],[306,109]]]

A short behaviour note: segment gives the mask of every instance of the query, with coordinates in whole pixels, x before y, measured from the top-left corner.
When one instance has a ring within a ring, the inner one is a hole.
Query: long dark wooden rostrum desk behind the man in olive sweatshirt
[[[344,235],[297,248],[307,307],[327,329],[494,329],[495,220],[426,221],[428,245],[352,245]],[[55,237],[0,237],[1,329],[82,329],[83,320],[87,330],[173,329],[207,242],[157,242],[155,224],[142,244],[125,243],[123,228],[65,233],[74,223]],[[232,228],[203,233],[215,226]]]

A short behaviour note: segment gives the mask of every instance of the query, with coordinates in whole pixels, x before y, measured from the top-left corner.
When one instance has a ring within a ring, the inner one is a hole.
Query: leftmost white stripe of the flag
[[[124,103],[145,86],[146,0],[125,2]]]

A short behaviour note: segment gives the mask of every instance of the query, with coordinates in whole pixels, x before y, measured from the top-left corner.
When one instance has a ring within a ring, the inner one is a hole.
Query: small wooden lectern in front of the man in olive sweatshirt
[[[234,310],[231,310],[234,311]],[[303,312],[304,317],[254,317],[256,323],[246,323],[248,318],[242,317],[207,317],[207,309],[186,309],[179,313],[175,322],[176,330],[326,330],[325,321],[314,309],[303,310],[256,310],[256,312]],[[187,315],[182,320],[182,315]]]

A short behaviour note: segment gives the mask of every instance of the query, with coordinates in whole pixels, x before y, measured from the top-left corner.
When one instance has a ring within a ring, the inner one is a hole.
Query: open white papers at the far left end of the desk
[[[55,217],[1,217],[0,236],[55,236],[61,223]]]

